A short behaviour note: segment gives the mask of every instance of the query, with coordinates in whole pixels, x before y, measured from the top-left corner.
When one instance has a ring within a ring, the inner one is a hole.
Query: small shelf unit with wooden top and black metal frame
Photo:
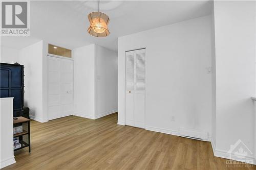
[[[25,117],[17,117],[17,119],[13,119],[13,127],[16,127],[18,125],[23,125],[27,123],[28,124],[28,131],[23,129],[23,132],[21,133],[16,133],[13,135],[13,137],[19,137],[19,143],[22,144],[22,147],[14,149],[14,151],[29,147],[29,152],[31,151],[30,149],[30,119],[25,118]],[[24,126],[23,126],[24,128]],[[28,142],[25,142],[23,140],[23,136],[28,135]]]

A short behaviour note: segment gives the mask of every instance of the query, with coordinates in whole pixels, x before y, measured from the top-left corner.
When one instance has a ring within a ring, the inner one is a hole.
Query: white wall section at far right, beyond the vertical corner
[[[255,2],[216,1],[216,151],[225,156],[241,139],[253,152]],[[252,156],[249,152],[247,157]]]

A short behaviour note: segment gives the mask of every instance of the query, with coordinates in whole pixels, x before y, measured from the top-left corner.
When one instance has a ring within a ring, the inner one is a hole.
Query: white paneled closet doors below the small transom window
[[[73,114],[73,60],[48,56],[48,119]]]

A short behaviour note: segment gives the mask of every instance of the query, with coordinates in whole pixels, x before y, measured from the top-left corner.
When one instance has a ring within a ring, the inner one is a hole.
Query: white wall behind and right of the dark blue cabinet
[[[47,42],[39,41],[20,50],[1,46],[1,62],[24,65],[25,103],[30,117],[47,122]],[[40,102],[40,103],[38,103]],[[41,105],[42,104],[42,105]]]

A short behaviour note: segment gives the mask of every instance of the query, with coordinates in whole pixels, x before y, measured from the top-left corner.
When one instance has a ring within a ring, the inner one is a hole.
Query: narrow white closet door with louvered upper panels
[[[125,125],[145,128],[145,49],[125,53]]]

